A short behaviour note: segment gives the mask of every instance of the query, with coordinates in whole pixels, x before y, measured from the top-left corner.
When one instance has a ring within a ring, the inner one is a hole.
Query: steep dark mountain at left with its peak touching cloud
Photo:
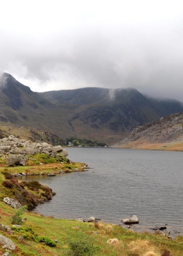
[[[0,79],[0,122],[49,130],[62,137],[66,136],[65,130],[72,131],[59,106],[7,73]]]

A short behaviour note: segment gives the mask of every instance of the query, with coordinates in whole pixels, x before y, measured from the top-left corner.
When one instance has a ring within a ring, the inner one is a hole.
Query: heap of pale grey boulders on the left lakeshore
[[[20,139],[13,135],[0,139],[0,154],[7,157],[7,165],[26,165],[29,156],[44,153],[50,157],[66,157],[67,151],[59,146],[52,146],[46,142],[36,143],[30,140]]]

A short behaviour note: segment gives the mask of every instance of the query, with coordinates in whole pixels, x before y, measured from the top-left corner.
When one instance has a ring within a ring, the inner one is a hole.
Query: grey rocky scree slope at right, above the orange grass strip
[[[183,142],[183,112],[133,129],[131,135],[112,147],[132,147],[134,143]]]

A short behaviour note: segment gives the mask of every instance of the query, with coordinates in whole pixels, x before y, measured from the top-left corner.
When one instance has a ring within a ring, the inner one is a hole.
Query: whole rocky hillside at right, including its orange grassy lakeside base
[[[112,147],[183,150],[183,112],[133,129],[131,135]]]

